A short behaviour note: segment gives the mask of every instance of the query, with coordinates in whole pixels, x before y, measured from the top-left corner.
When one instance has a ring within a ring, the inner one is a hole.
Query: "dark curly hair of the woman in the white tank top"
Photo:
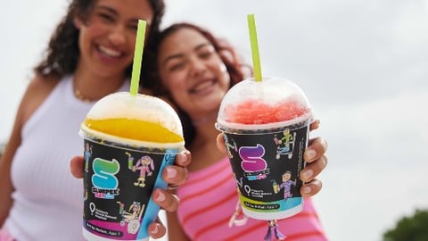
[[[45,50],[44,59],[37,64],[34,71],[38,75],[45,77],[62,77],[76,71],[78,57],[78,29],[76,29],[73,19],[78,17],[86,21],[93,11],[96,0],[72,0],[67,14],[58,24]],[[163,0],[149,0],[153,19],[149,29],[150,34],[147,38],[146,47],[153,46],[153,37],[159,34],[161,19],[165,12],[165,3]],[[145,55],[145,53],[144,53]],[[145,57],[144,57],[145,59]],[[147,73],[147,64],[142,63],[141,79],[145,79],[144,73]],[[132,64],[127,69],[127,76],[131,77]],[[144,81],[140,81],[144,83]]]

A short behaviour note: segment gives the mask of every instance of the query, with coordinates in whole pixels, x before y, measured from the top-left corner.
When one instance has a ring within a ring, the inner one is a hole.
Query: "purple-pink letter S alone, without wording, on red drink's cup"
[[[266,170],[268,163],[263,159],[265,148],[263,145],[242,146],[239,148],[239,156],[243,159],[241,167],[246,171]]]

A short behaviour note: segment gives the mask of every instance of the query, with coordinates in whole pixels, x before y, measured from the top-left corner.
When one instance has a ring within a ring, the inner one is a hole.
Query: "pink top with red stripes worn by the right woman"
[[[268,223],[249,219],[241,227],[228,227],[238,202],[235,179],[227,158],[209,168],[193,171],[177,190],[181,200],[177,215],[191,240],[263,240]],[[278,220],[287,241],[325,241],[325,232],[309,198],[303,211]]]

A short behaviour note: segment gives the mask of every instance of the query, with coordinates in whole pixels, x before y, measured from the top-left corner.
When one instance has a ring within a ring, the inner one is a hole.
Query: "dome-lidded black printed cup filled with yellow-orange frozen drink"
[[[177,113],[159,98],[128,92],[103,97],[87,113],[83,235],[88,240],[149,240],[159,206],[154,188],[184,148]]]

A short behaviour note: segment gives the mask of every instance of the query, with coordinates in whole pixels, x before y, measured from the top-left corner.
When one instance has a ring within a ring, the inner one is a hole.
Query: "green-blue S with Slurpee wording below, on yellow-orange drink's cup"
[[[119,195],[119,181],[115,176],[120,170],[119,162],[115,159],[109,161],[97,157],[92,163],[92,168],[94,170],[92,193],[95,197],[114,199],[115,195]]]

